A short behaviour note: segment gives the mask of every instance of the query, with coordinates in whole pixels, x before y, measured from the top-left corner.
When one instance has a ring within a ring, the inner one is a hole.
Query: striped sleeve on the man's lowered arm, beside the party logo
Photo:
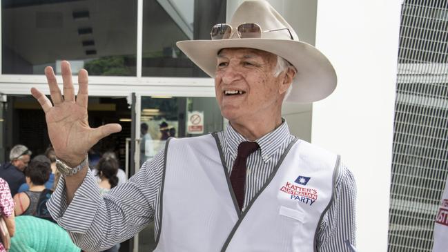
[[[333,202],[324,214],[318,232],[319,252],[352,252],[356,243],[356,183],[340,163]]]

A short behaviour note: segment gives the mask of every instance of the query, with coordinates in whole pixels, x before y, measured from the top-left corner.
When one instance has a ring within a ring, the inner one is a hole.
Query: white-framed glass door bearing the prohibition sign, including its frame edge
[[[206,135],[223,129],[215,97],[135,97],[135,172],[164,149],[169,137]],[[134,252],[155,249],[154,224],[135,236]]]

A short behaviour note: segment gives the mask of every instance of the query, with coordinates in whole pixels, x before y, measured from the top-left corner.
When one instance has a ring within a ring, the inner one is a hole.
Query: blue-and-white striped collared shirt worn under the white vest
[[[228,173],[237,155],[237,146],[246,141],[230,125],[218,133]],[[262,188],[275,164],[294,139],[288,125],[257,139],[260,148],[247,159],[244,207]],[[318,251],[351,251],[355,244],[356,186],[351,172],[340,164],[333,202],[325,213],[318,231]],[[133,237],[150,222],[159,229],[159,197],[161,197],[164,151],[145,162],[127,183],[115,186],[100,196],[95,177],[88,171],[70,206],[66,204],[65,180],[61,178],[48,209],[58,224],[70,232],[75,244],[86,251],[101,251],[117,242]],[[199,245],[198,245],[199,246]]]

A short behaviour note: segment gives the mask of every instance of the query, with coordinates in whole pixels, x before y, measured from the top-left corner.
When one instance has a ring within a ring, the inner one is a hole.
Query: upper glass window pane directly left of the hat
[[[211,27],[225,20],[225,0],[145,0],[142,75],[208,77],[177,48],[176,42],[210,39]]]

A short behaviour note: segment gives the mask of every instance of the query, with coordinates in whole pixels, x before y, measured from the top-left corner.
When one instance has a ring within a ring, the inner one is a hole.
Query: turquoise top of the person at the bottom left
[[[31,215],[15,218],[16,232],[9,252],[79,252],[67,231],[48,220]]]

